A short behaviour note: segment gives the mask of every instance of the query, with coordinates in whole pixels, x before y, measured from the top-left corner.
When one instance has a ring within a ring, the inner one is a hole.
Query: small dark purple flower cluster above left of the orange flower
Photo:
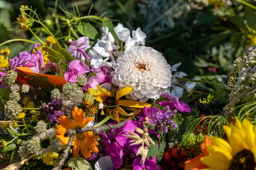
[[[64,115],[64,112],[61,110],[61,102],[62,98],[58,100],[53,100],[51,98],[51,102],[49,102],[48,104],[44,103],[42,106],[39,106],[40,113],[47,115],[50,123],[52,123],[53,121],[59,123],[58,117]]]

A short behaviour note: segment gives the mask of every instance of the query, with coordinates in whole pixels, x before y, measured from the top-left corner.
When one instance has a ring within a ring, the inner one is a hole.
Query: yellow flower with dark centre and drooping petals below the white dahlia
[[[107,91],[106,89],[101,88],[99,85],[97,85],[97,88],[98,89],[95,93],[93,93],[95,90],[92,88],[89,88],[88,92],[90,94],[93,94],[93,97],[95,100],[97,100],[98,102],[102,102],[104,104],[101,114],[105,114],[104,109],[106,108],[106,113],[109,114],[110,117],[115,118],[117,121],[124,121],[125,119],[131,119],[137,114],[139,114],[141,109],[144,108],[144,106],[148,108],[151,106],[150,104],[145,102],[119,100],[122,96],[125,96],[126,94],[130,93],[133,90],[132,87],[122,88],[121,90],[117,91],[116,97],[113,97],[110,91]],[[133,114],[126,113],[126,111],[122,109],[120,106],[128,107],[127,109],[134,111]],[[132,108],[138,108],[138,109],[134,110]],[[119,114],[126,117],[119,116]]]

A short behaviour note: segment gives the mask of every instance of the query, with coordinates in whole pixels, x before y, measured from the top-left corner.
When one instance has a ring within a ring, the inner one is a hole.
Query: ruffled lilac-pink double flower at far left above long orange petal
[[[38,42],[35,43],[30,52],[20,52],[16,57],[10,58],[10,65],[15,67],[29,67],[35,73],[40,73],[44,65],[44,57],[42,51],[38,50],[33,54],[33,49],[39,47]],[[16,70],[15,68],[13,68]]]

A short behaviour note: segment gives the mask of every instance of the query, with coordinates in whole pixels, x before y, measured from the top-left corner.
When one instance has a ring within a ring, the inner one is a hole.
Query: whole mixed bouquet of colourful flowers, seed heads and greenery
[[[145,46],[140,28],[131,31],[90,12],[64,14],[53,18],[67,36],[53,34],[36,11],[22,5],[17,23],[36,41],[0,44],[33,45],[17,56],[8,47],[0,50],[2,169],[256,167],[255,51],[236,59],[227,87],[183,78],[181,63],[171,66]],[[33,31],[35,25],[43,36]],[[186,104],[183,93],[190,96],[202,83],[230,91],[222,113],[212,111],[211,94],[199,99],[209,106],[207,114]]]

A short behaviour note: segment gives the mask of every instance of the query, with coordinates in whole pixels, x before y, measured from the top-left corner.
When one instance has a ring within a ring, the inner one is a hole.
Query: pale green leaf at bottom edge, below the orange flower
[[[72,167],[72,170],[93,170],[89,162],[80,156],[71,158],[67,161],[67,164],[69,167]]]

